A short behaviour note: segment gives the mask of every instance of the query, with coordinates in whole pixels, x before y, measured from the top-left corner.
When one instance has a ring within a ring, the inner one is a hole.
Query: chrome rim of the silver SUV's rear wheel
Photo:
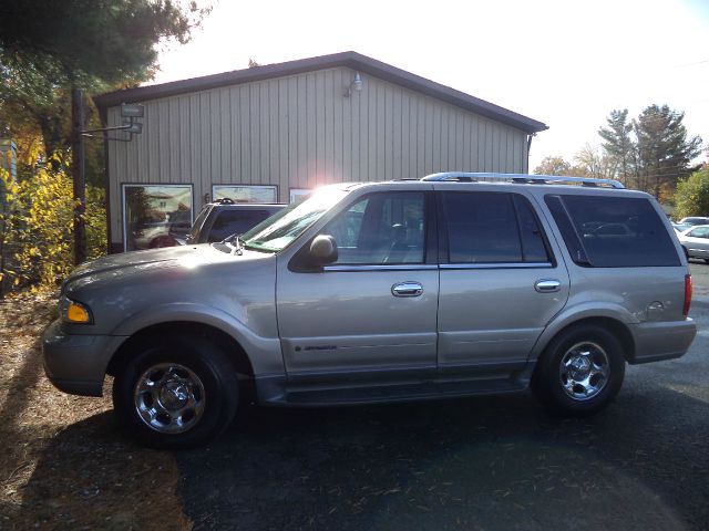
[[[608,384],[608,354],[597,343],[577,343],[566,351],[559,365],[559,381],[566,396],[574,400],[589,400]]]

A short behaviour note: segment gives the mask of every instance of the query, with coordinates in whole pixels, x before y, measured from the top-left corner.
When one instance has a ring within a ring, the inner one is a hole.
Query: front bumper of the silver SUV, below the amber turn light
[[[66,334],[60,321],[54,321],[42,334],[44,373],[60,391],[101,396],[109,362],[125,340],[115,335]]]

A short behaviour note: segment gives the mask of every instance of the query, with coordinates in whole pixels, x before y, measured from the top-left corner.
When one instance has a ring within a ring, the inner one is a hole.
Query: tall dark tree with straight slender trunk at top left
[[[76,262],[85,258],[81,91],[151,79],[156,45],[166,39],[187,42],[207,11],[194,1],[172,0],[4,0],[0,6],[0,112],[24,110],[42,132],[45,160],[71,146]]]

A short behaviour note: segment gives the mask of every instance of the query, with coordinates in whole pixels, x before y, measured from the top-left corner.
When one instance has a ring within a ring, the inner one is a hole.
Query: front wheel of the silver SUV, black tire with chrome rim
[[[234,367],[203,337],[152,337],[113,382],[119,420],[153,448],[207,444],[233,420],[237,403]]]

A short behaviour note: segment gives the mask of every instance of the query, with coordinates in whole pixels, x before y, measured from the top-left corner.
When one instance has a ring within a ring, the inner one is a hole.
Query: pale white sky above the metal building
[[[709,0],[220,0],[155,82],[350,50],[547,124],[531,170],[614,108],[667,104],[709,145]]]

